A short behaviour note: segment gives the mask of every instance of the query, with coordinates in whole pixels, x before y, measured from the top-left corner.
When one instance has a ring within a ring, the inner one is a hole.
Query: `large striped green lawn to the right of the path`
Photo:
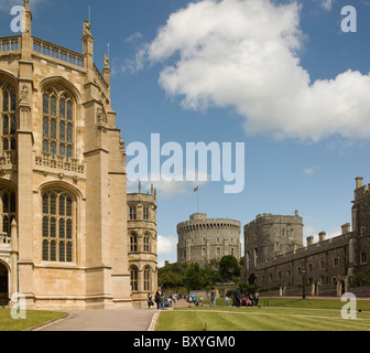
[[[263,299],[264,300],[264,299]],[[357,319],[342,319],[345,304],[329,299],[270,298],[270,307],[194,307],[162,312],[156,331],[369,331],[370,301],[357,302]],[[369,310],[369,311],[366,311]]]

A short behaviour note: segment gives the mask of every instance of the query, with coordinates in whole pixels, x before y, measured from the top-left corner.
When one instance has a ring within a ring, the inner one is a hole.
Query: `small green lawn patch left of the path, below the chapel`
[[[0,309],[0,331],[23,331],[65,314],[65,312],[28,310],[26,319],[14,320],[10,309]]]

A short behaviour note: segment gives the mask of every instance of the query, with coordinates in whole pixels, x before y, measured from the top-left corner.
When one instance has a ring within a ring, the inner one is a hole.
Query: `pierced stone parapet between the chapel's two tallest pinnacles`
[[[85,66],[85,56],[68,49],[33,36],[33,51],[78,67]]]

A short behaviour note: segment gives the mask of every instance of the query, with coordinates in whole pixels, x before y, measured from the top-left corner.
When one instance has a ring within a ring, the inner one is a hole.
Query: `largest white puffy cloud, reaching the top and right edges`
[[[327,2],[327,7],[330,6]],[[317,141],[339,135],[369,139],[370,76],[351,69],[312,82],[296,2],[203,0],[172,13],[135,65],[172,58],[160,75],[188,109],[232,107],[247,135]]]

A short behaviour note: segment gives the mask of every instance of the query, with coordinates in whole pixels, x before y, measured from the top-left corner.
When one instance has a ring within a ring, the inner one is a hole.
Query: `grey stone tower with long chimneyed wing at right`
[[[346,223],[336,237],[326,239],[325,232],[320,232],[317,243],[308,236],[304,247],[297,212],[295,216],[265,214],[247,224],[246,280],[284,289],[307,282],[311,295],[347,291],[351,276],[370,271],[370,185],[362,183],[362,178],[356,179],[352,229]]]

